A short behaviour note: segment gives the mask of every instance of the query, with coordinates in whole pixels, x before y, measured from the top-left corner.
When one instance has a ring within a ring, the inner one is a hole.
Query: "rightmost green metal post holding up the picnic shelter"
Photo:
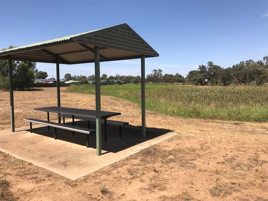
[[[141,133],[145,138],[145,55],[141,55]]]

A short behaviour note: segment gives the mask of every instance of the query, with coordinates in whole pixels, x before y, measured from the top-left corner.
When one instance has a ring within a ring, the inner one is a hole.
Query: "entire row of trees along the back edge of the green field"
[[[90,76],[71,76],[65,74],[65,79],[77,80],[86,82],[87,80],[95,81],[95,75]],[[119,75],[107,76],[103,74],[101,80],[122,80],[125,83],[141,83],[141,76]],[[212,61],[208,61],[207,65],[199,65],[197,70],[191,70],[186,78],[179,73],[164,74],[161,69],[154,69],[151,74],[145,78],[146,83],[187,83],[193,85],[218,85],[228,86],[234,85],[263,85],[268,83],[268,55],[263,57],[263,60],[257,62],[253,60],[241,61],[229,68],[222,68],[215,65]],[[268,85],[268,84],[267,84]]]

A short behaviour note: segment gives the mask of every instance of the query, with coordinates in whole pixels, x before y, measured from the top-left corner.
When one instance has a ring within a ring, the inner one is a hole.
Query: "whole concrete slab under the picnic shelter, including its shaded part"
[[[84,121],[77,121],[77,126],[87,127]],[[92,123],[91,128],[95,124]],[[102,130],[103,131],[103,130]],[[141,138],[138,127],[119,127],[108,125],[107,142],[102,139],[102,155],[96,155],[96,136],[90,136],[90,148],[86,148],[86,135],[58,129],[54,140],[54,128],[33,126],[16,129],[16,132],[0,132],[0,150],[10,155],[33,163],[34,165],[56,172],[75,180],[117,162],[138,151],[177,135],[164,129],[147,129],[146,139]],[[104,136],[103,136],[104,137]]]

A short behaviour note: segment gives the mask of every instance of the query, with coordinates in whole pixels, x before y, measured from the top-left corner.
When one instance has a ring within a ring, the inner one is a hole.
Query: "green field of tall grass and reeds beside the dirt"
[[[268,87],[146,85],[146,109],[185,118],[268,121]],[[95,94],[95,86],[71,85],[66,92]],[[141,104],[141,85],[101,86],[101,95]]]

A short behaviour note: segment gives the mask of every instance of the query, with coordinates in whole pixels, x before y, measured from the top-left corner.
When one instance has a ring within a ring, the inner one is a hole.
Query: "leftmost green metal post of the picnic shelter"
[[[8,57],[8,72],[9,72],[9,95],[10,95],[10,117],[11,117],[11,131],[15,132],[14,120],[14,98],[13,98],[13,68],[11,56]]]

